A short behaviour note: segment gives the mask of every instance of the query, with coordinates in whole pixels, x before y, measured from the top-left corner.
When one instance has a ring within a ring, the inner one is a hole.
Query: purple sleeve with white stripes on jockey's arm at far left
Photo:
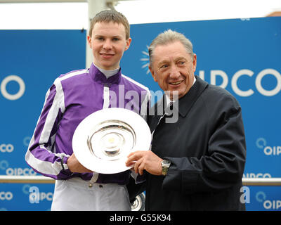
[[[62,117],[62,96],[53,84],[46,94],[44,108],[25,155],[27,164],[35,172],[53,179],[67,179],[72,174],[66,164],[70,155],[55,153],[54,148],[55,134]]]

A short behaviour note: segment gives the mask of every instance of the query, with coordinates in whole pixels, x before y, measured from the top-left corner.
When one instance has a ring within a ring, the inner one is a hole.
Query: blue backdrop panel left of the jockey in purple
[[[46,91],[60,74],[85,68],[85,48],[85,31],[0,30],[0,175],[36,174],[25,153]],[[53,184],[36,184],[39,204],[30,203],[30,186],[0,184],[0,210],[50,209]]]

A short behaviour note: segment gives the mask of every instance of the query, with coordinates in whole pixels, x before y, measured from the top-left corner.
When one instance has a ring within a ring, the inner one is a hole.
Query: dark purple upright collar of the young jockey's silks
[[[109,86],[112,84],[119,84],[122,75],[120,68],[116,75],[113,75],[107,79],[105,75],[100,72],[100,70],[98,70],[95,65],[93,65],[93,63],[89,68],[89,74],[95,82],[98,82],[99,84],[107,84]]]

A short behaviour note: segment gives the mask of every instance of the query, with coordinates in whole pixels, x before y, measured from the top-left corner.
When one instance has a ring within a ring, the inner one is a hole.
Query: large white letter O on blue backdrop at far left
[[[11,93],[11,90],[7,89],[10,82],[16,82],[18,84],[19,89],[16,93]],[[25,93],[25,82],[17,75],[9,75],[2,80],[0,84],[0,92],[4,98],[7,98],[8,100],[17,100]]]

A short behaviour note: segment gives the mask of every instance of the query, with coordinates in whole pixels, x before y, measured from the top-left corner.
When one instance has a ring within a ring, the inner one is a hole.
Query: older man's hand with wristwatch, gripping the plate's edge
[[[143,169],[153,175],[162,175],[162,158],[151,150],[138,150],[128,155],[126,166],[134,164],[133,169],[137,174],[143,175]]]

